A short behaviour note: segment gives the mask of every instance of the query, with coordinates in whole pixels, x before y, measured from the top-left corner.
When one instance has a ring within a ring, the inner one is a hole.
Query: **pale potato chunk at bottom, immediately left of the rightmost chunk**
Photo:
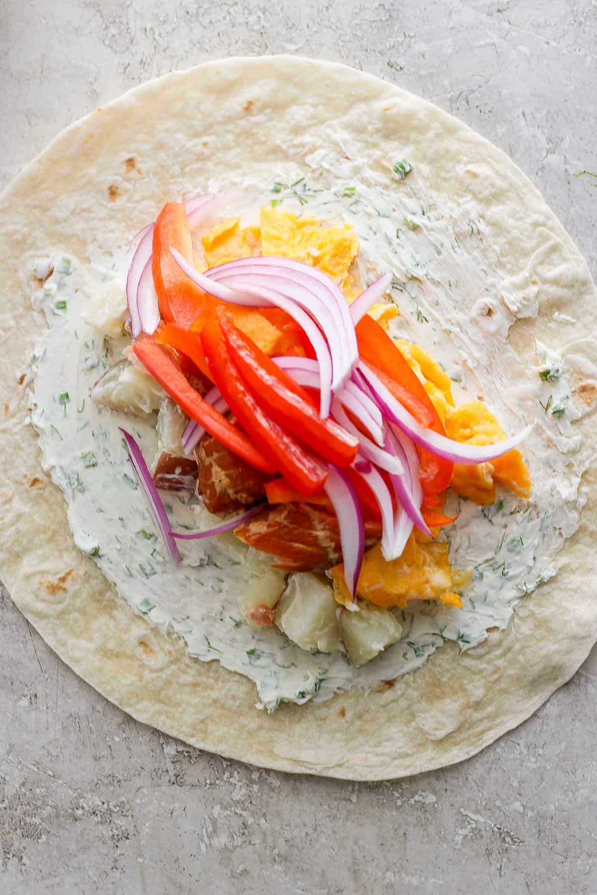
[[[317,575],[291,575],[277,604],[276,624],[303,650],[337,652],[342,649],[334,592]]]

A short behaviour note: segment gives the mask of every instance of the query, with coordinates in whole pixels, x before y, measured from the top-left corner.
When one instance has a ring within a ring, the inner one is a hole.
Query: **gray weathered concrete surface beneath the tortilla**
[[[0,0],[0,185],[172,68],[290,52],[396,81],[505,149],[597,274],[595,0]],[[588,598],[589,595],[587,595]],[[136,723],[0,598],[0,892],[597,892],[597,652],[463,765],[354,785]]]

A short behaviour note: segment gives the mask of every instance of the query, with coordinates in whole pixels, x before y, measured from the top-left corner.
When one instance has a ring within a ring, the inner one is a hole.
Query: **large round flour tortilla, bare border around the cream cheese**
[[[596,477],[565,566],[517,608],[505,632],[458,657],[438,650],[414,675],[327,703],[254,708],[252,683],[135,616],[74,546],[61,492],[42,471],[19,384],[33,338],[31,261],[88,243],[124,245],[165,200],[209,177],[275,179],[320,146],[351,142],[380,177],[408,158],[431,189],[482,209],[500,264],[536,277],[539,320],[510,341],[531,362],[533,336],[558,345],[554,310],[595,334],[596,291],[558,220],[525,175],[464,124],[420,98],[337,64],[280,56],[230,59],[167,75],[73,124],[0,198],[0,574],[13,601],[82,678],[136,719],[194,746],[283,771],[352,780],[397,778],[461,761],[529,717],[576,671],[597,637]],[[480,176],[465,169],[476,166]],[[589,389],[590,392],[590,389]],[[587,388],[584,389],[587,399]],[[591,395],[588,395],[590,399]],[[593,417],[583,423],[594,439]]]

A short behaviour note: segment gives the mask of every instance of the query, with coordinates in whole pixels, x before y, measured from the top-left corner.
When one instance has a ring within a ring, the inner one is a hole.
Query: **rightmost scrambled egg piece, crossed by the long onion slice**
[[[448,438],[471,445],[487,445],[506,439],[493,413],[481,401],[470,401],[449,407],[446,413]],[[496,484],[514,491],[519,498],[531,495],[531,476],[516,447],[503,456],[474,466],[455,464],[450,486],[459,494],[479,504],[490,504],[496,498]]]

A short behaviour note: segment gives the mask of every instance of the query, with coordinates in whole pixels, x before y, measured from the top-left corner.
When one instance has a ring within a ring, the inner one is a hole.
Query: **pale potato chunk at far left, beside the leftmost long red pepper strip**
[[[155,413],[165,397],[155,379],[128,361],[113,364],[91,389],[96,404],[137,416]]]

